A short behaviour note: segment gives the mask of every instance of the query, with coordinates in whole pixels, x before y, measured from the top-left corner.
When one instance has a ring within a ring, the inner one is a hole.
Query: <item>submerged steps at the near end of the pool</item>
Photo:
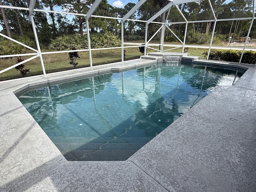
[[[50,137],[67,160],[126,160],[153,137]]]

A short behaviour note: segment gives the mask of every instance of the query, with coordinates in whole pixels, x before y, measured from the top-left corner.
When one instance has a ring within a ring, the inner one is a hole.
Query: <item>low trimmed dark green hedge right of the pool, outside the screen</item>
[[[208,51],[203,53],[204,56],[207,57]],[[242,55],[241,50],[220,50],[220,49],[212,49],[210,51],[209,59],[210,60],[219,60],[219,61],[228,61],[228,62],[236,62],[240,61],[240,57]],[[256,51],[244,51],[242,57],[242,63],[246,64],[256,64]]]

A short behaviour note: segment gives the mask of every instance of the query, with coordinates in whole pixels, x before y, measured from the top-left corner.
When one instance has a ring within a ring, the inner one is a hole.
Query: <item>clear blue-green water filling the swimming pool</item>
[[[67,160],[126,160],[237,71],[155,64],[30,90],[19,100]]]

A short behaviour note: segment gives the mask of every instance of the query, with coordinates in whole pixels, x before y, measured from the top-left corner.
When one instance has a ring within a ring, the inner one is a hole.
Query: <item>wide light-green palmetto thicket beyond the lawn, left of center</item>
[[[90,43],[91,48],[121,46],[121,40],[111,32],[91,34]],[[87,35],[59,36],[55,40],[51,40],[49,48],[52,50],[88,49]]]

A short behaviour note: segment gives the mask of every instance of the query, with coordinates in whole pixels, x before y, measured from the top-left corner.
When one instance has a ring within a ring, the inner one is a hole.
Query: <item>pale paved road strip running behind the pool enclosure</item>
[[[124,42],[125,45],[142,45],[142,43],[128,43]],[[149,43],[148,46],[158,46],[158,44]],[[164,44],[167,47],[182,47],[182,45],[176,44]],[[208,49],[209,46],[205,45],[186,45],[185,47],[192,47],[192,48],[204,48]],[[212,49],[232,49],[232,50],[243,50],[244,47],[234,47],[234,46],[212,46]],[[245,50],[253,50],[256,51],[256,47],[246,47]]]

